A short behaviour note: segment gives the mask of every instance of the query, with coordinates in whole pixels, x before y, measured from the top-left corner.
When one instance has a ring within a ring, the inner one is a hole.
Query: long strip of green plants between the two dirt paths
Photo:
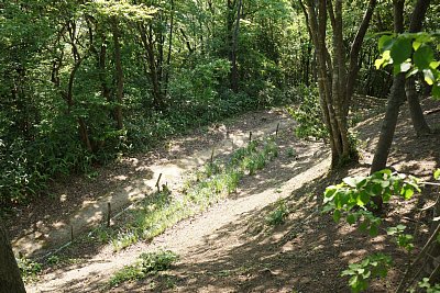
[[[228,160],[206,164],[187,180],[183,194],[172,194],[168,190],[151,194],[124,215],[124,225],[117,230],[98,228],[92,237],[111,243],[116,251],[140,239],[152,239],[235,192],[243,176],[254,174],[277,156],[273,138],[252,140],[246,147],[238,148]]]

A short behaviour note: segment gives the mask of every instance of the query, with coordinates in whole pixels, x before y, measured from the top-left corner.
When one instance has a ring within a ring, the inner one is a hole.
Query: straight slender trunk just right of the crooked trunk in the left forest
[[[114,44],[114,65],[117,69],[117,106],[116,106],[116,119],[118,123],[118,129],[123,128],[123,117],[122,117],[122,104],[123,104],[123,70],[121,60],[121,43],[120,43],[120,31],[118,19],[111,19],[111,29],[113,33],[113,44]]]

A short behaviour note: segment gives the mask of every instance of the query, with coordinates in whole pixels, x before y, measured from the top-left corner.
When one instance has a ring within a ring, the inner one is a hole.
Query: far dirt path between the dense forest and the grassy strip
[[[160,174],[162,174],[161,184],[166,183],[170,190],[177,189],[186,172],[210,159],[212,149],[215,155],[226,155],[243,146],[249,140],[250,132],[253,138],[257,138],[274,134],[277,127],[283,129],[293,124],[293,120],[279,111],[246,114],[239,121],[232,125],[215,125],[213,129],[210,129],[210,139],[205,142],[197,137],[202,136],[200,133],[170,140],[167,149],[158,153],[155,160],[152,160],[151,156],[127,158],[123,164],[129,165],[128,171],[122,169],[122,171],[107,173],[103,176],[107,180],[102,177],[95,179],[96,182],[100,180],[106,182],[110,178],[111,183],[108,187],[103,185],[101,190],[90,187],[91,190],[96,190],[94,196],[86,196],[86,200],[77,203],[76,209],[67,210],[63,217],[53,219],[41,214],[31,227],[28,223],[29,228],[22,228],[12,239],[14,251],[25,256],[42,255],[51,248],[66,244],[72,238],[72,232],[78,235],[102,223],[107,215],[108,203],[111,204],[111,210],[117,212],[147,196],[155,189]],[[194,140],[196,143],[199,140],[199,143],[195,145],[191,143]],[[78,185],[81,187],[82,183],[78,182]],[[59,202],[51,205],[63,204],[74,192],[76,191],[58,192],[55,198],[59,199]],[[84,195],[82,193],[77,196]],[[54,214],[61,213],[54,211]]]

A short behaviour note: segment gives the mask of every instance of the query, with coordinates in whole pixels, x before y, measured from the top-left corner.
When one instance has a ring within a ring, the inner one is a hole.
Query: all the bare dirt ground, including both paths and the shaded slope
[[[429,100],[425,104],[427,109],[438,106]],[[404,109],[389,162],[398,171],[428,181],[433,169],[440,166],[439,135],[417,138],[407,112]],[[249,113],[173,138],[146,155],[131,156],[100,168],[94,180],[69,178],[54,185],[52,200],[43,199],[33,210],[23,209],[16,211],[15,217],[10,217],[16,250],[29,250],[35,257],[53,251],[54,247],[69,241],[69,225],[75,226],[75,230],[87,229],[102,221],[105,210],[100,204],[106,206],[109,192],[128,190],[112,193],[113,198],[124,199],[119,206],[123,209],[131,202],[130,191],[141,184],[135,194],[147,194],[154,189],[158,172],[165,173],[164,170],[170,170],[169,166],[178,166],[173,169],[178,170],[177,174],[173,177],[170,172],[167,179],[172,190],[177,191],[182,184],[179,178],[209,160],[212,147],[217,156],[227,156],[233,147],[249,139],[250,131],[256,139],[258,135],[273,134],[278,123],[280,125],[276,138],[279,156],[255,176],[243,178],[240,189],[230,198],[182,221],[152,241],[140,241],[119,252],[82,234],[74,245],[58,252],[68,261],[48,266],[26,289],[29,292],[350,292],[348,279],[339,277],[340,272],[367,253],[382,251],[393,256],[395,263],[385,280],[372,282],[370,292],[393,292],[408,261],[406,252],[396,249],[383,232],[371,239],[354,226],[336,224],[330,215],[320,212],[327,185],[348,174],[367,174],[381,119],[381,114],[372,115],[355,127],[361,142],[361,162],[338,172],[329,172],[329,147],[320,142],[296,138],[295,123],[278,110]],[[431,126],[440,125],[440,113],[433,112],[427,119]],[[188,158],[197,158],[197,161],[188,161]],[[155,169],[152,166],[165,167]],[[415,253],[428,234],[431,216],[429,211],[417,209],[433,203],[437,196],[438,191],[426,189],[409,203],[395,201],[387,209],[384,227],[404,219],[411,230],[417,228],[420,240]],[[287,203],[288,216],[279,226],[268,225],[267,215],[280,199]],[[89,205],[97,210],[90,212]],[[96,216],[99,209],[101,214]],[[88,211],[85,215],[92,219],[86,224],[75,222],[75,215],[84,215],[84,211]],[[31,229],[29,223],[32,223]],[[53,230],[58,232],[51,234]],[[169,249],[179,256],[170,270],[142,281],[106,288],[113,272],[133,263],[141,252],[158,249]]]

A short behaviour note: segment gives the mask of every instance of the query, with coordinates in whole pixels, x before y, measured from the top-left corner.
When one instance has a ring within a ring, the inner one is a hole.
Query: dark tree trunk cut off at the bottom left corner
[[[2,219],[0,219],[0,293],[25,293]]]

